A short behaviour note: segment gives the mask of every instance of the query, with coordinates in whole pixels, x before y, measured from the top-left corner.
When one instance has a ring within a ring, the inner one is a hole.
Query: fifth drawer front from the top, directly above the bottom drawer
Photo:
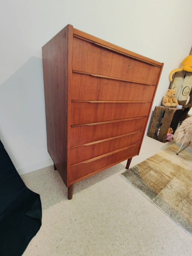
[[[140,131],[71,148],[70,165],[81,163],[136,143],[141,143],[143,133],[144,131]]]

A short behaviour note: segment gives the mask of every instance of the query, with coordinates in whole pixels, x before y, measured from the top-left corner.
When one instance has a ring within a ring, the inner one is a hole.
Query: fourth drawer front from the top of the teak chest
[[[72,126],[71,147],[141,131],[145,129],[146,124],[147,117],[138,117],[135,119]]]

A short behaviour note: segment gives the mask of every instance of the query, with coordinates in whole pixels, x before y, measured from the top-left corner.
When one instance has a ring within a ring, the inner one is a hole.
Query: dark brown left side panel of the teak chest
[[[68,26],[42,47],[48,152],[66,184]]]

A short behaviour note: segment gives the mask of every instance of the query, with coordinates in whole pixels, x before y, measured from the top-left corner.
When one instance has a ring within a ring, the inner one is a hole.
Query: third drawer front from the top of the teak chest
[[[72,101],[71,124],[103,122],[148,116],[151,102]]]

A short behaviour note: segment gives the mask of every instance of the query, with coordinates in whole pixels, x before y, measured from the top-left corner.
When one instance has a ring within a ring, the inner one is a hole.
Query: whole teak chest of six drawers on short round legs
[[[42,47],[48,152],[68,187],[139,154],[163,63],[68,25]]]

